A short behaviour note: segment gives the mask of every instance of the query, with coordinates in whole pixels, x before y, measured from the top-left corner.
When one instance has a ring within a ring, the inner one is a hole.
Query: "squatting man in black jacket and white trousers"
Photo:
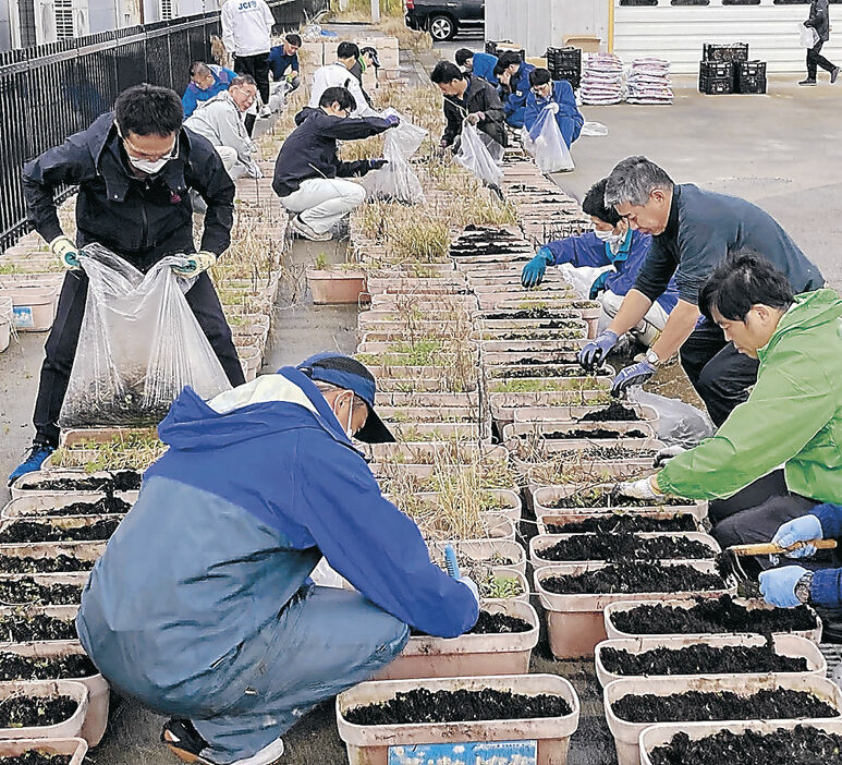
[[[387,163],[385,159],[340,161],[337,141],[367,138],[394,127],[396,117],[349,117],[356,101],[344,87],[329,87],[318,108],[304,107],[295,116],[298,125],[281,146],[274,162],[272,189],[281,204],[296,215],[292,228],[314,242],[332,239],[331,229],[363,204],[366,191],[341,178],[365,175]]]

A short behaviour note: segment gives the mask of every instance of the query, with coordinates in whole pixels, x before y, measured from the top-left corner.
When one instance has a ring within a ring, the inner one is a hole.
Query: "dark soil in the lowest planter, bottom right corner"
[[[696,741],[676,733],[649,760],[652,765],[842,765],[842,736],[803,725],[773,733],[723,730]]]

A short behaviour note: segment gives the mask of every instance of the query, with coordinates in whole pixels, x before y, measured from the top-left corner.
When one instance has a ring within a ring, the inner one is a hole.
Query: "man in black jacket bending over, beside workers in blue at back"
[[[441,136],[442,148],[454,145],[465,119],[500,146],[508,145],[503,102],[491,85],[467,72],[463,74],[450,61],[439,61],[430,80],[444,94],[444,118],[448,124]]]

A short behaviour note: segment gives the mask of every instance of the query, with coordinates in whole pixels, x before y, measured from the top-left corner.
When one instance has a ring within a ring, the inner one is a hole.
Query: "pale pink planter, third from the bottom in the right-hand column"
[[[807,660],[807,671],[805,672],[776,672],[776,676],[783,677],[806,677],[815,675],[816,677],[823,678],[828,671],[828,663],[819,647],[806,638],[800,638],[797,635],[774,635],[772,638],[774,644],[774,652],[780,656],[789,656],[792,658],[804,658]],[[643,680],[645,677],[670,677],[685,680],[687,678],[700,677],[696,675],[614,675],[606,669],[602,664],[602,652],[606,648],[615,648],[618,651],[627,651],[630,654],[638,655],[645,654],[648,651],[656,648],[668,648],[670,651],[679,651],[685,648],[688,645],[709,645],[712,648],[722,648],[727,646],[756,646],[758,648],[766,645],[765,635],[752,635],[752,634],[734,634],[734,635],[709,635],[707,638],[684,638],[683,635],[674,635],[672,638],[626,638],[624,640],[603,640],[596,648],[596,667],[597,679],[602,688],[606,688],[610,682],[614,680],[637,679]],[[765,672],[745,672],[740,677],[744,680],[752,680],[758,677],[762,677]],[[709,675],[705,673],[704,677],[713,678],[732,677],[730,672],[723,675]]]

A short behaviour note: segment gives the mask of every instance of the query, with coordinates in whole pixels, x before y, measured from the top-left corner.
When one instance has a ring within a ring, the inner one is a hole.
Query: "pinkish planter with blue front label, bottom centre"
[[[478,691],[485,688],[527,695],[559,695],[570,704],[572,712],[564,717],[393,726],[358,726],[344,718],[349,708],[393,699],[402,691]],[[578,727],[578,715],[576,692],[568,680],[556,675],[386,680],[364,682],[337,696],[337,725],[347,746],[350,765],[389,765],[389,750],[395,746],[477,741],[537,741],[536,765],[565,765],[570,737]]]

